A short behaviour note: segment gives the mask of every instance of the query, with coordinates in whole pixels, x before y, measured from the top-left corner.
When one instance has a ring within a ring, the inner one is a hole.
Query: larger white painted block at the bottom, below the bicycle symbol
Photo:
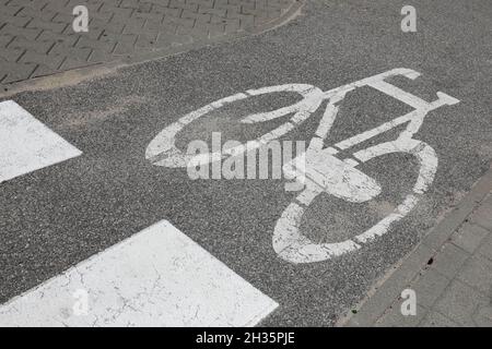
[[[0,326],[253,326],[277,306],[163,220],[1,305]]]

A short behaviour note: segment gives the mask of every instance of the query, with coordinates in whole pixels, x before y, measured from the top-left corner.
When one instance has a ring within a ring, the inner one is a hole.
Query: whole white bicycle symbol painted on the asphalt
[[[410,69],[394,69],[326,92],[312,85],[288,84],[249,89],[245,93],[235,94],[192,111],[168,125],[149,144],[145,157],[156,166],[186,168],[187,166],[190,166],[189,164],[196,166],[197,164],[221,160],[224,156],[237,156],[242,153],[267,145],[272,140],[292,131],[307,120],[312,113],[319,108],[324,100],[327,100],[327,107],[315,136],[311,140],[307,151],[300,155],[300,157],[304,157],[302,158],[304,160],[302,163],[306,165],[304,173],[302,178],[300,178],[300,181],[302,181],[305,186],[297,197],[285,208],[280,219],[277,221],[272,244],[274,251],[281,258],[292,263],[320,262],[333,256],[340,256],[359,250],[362,244],[367,241],[383,236],[389,230],[393,222],[402,219],[415,206],[419,197],[427,190],[429,185],[434,180],[434,174],[437,169],[437,156],[435,151],[429,144],[414,140],[412,136],[419,131],[425,116],[430,111],[445,105],[450,106],[459,103],[458,99],[441,92],[437,92],[438,98],[436,100],[427,103],[385,82],[385,79],[396,75],[402,75],[414,80],[420,74]],[[323,148],[324,140],[327,137],[339,110],[337,104],[343,100],[347,93],[362,86],[376,88],[377,91],[411,106],[414,110],[389,122],[383,123],[375,129],[349,137],[330,147]],[[212,110],[251,96],[279,92],[295,92],[298,93],[303,99],[292,106],[269,112],[250,115],[241,120],[243,123],[256,123],[284,117],[286,115],[293,115],[290,121],[278,127],[273,131],[263,134],[254,141],[242,144],[241,146],[230,148],[222,154],[209,153],[204,156],[194,156],[187,155],[176,147],[176,134],[187,124]],[[365,149],[358,151],[352,155],[353,158],[341,160],[336,157],[341,151],[348,149],[407,122],[407,128],[395,141],[379,143]],[[412,189],[412,193],[408,194],[394,212],[384,217],[372,228],[343,242],[314,243],[301,233],[301,219],[306,208],[321,193],[328,193],[351,203],[363,203],[377,196],[380,192],[379,184],[374,179],[356,169],[356,167],[375,157],[391,153],[411,154],[420,164],[419,176]],[[292,174],[292,171],[296,169],[296,164],[300,164],[300,157],[283,166],[284,173]]]

